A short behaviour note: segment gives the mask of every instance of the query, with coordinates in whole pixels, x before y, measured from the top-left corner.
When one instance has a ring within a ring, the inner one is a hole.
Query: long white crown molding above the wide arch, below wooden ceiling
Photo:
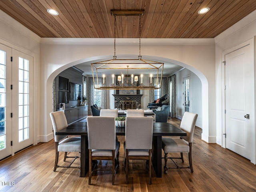
[[[138,38],[116,38],[116,44],[138,44]],[[41,44],[114,44],[114,38],[41,38]],[[141,38],[150,45],[209,45],[214,38]]]

